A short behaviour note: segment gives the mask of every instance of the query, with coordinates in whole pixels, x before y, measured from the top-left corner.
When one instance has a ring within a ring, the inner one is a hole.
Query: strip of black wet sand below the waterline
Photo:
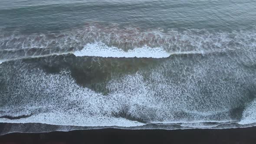
[[[99,129],[0,136],[0,144],[256,144],[256,127],[222,130]]]

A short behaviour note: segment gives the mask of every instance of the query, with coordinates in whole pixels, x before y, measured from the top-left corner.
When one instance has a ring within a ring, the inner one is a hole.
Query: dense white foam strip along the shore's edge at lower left
[[[75,114],[75,113],[74,113]],[[53,111],[49,113],[41,113],[32,115],[29,118],[21,118],[10,121],[7,118],[0,119],[3,123],[42,123],[63,126],[84,126],[84,127],[136,127],[145,125],[138,121],[130,121],[125,118],[103,117],[96,115],[95,117],[82,117],[81,115],[71,115]]]

